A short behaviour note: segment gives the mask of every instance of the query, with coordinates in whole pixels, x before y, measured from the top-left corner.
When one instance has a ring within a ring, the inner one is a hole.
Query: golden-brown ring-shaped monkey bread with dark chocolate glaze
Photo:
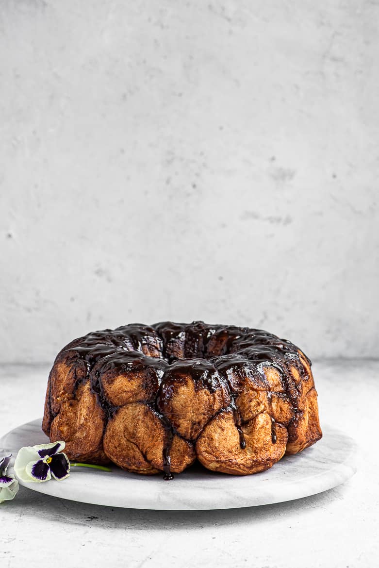
[[[79,337],[49,374],[43,431],[70,460],[141,474],[257,473],[322,437],[308,357],[233,325],[129,324]]]

